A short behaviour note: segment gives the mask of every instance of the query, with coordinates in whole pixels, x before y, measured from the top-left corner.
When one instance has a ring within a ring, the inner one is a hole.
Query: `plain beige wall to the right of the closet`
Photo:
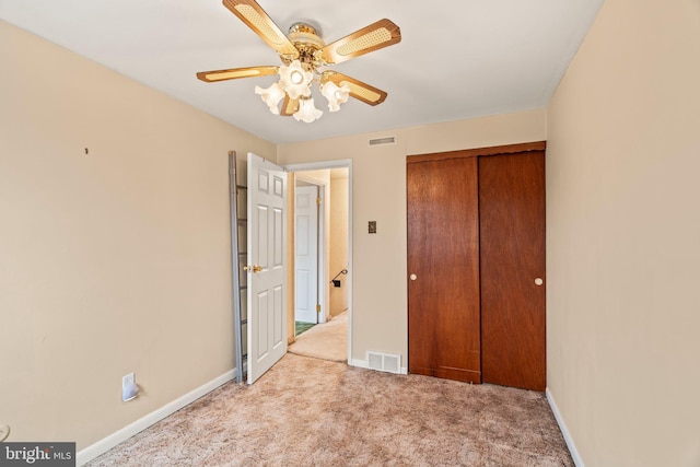
[[[700,465],[700,3],[607,0],[548,108],[548,385],[587,466]]]

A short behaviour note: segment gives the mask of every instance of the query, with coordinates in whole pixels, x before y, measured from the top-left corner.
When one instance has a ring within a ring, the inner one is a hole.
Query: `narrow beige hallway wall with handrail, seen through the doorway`
[[[348,170],[330,171],[330,270],[332,279],[342,269],[348,269]],[[330,315],[338,316],[348,310],[348,276],[338,276],[340,287],[328,284]]]

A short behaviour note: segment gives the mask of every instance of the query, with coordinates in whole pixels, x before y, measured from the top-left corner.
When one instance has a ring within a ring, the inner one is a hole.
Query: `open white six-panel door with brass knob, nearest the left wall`
[[[248,153],[248,384],[287,353],[287,174]]]

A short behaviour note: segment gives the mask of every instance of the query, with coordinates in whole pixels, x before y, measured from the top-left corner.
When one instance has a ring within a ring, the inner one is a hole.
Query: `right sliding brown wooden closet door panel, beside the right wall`
[[[546,388],[545,152],[479,157],[485,383]]]

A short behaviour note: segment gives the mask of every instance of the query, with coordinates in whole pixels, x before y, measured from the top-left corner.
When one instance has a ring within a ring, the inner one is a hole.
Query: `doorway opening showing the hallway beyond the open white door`
[[[285,166],[293,254],[289,351],[348,362],[351,340],[351,161]],[[304,329],[306,328],[306,329]]]

